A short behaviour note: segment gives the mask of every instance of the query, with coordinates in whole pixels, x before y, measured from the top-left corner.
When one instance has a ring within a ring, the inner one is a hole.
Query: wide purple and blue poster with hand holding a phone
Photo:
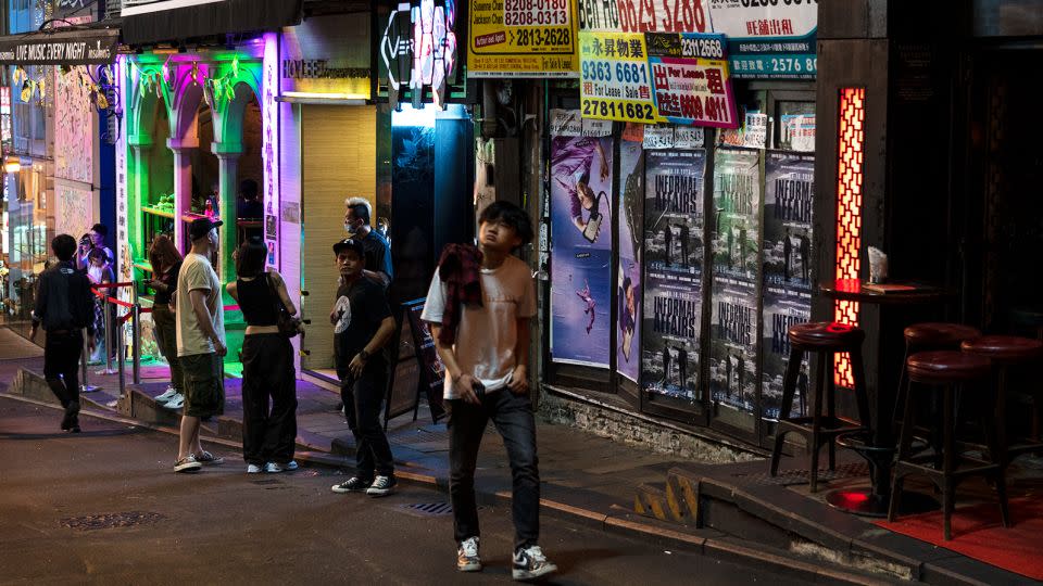
[[[551,356],[607,367],[612,301],[611,137],[551,139]]]

